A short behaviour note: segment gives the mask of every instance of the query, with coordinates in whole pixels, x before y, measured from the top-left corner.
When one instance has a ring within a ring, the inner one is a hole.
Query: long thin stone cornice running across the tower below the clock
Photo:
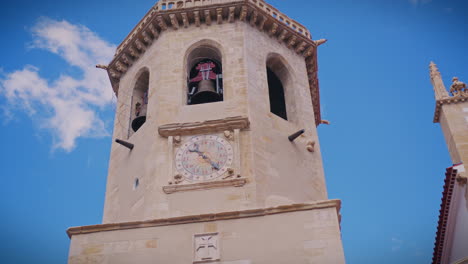
[[[340,200],[322,200],[303,204],[282,205],[269,208],[258,208],[242,211],[231,211],[213,214],[189,215],[180,217],[161,218],[147,221],[135,221],[124,223],[100,224],[91,226],[70,227],[67,235],[71,238],[74,235],[91,234],[105,231],[119,231],[135,228],[149,228],[158,226],[191,224],[211,221],[232,220],[247,217],[260,217],[274,214],[291,213],[298,211],[309,211],[316,209],[336,208],[338,219],[340,220]]]

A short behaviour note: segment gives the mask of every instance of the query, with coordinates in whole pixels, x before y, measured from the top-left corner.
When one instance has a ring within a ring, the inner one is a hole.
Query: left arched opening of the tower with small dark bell
[[[133,88],[132,104],[131,104],[131,134],[137,132],[138,129],[146,122],[146,111],[148,108],[148,90],[149,90],[149,72],[144,70],[140,73],[135,87]],[[131,135],[130,134],[130,135]]]

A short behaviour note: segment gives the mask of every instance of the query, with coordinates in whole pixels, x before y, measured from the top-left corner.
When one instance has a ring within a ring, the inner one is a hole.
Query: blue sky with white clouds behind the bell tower
[[[319,127],[347,263],[429,263],[446,167],[431,60],[468,82],[463,0],[269,1],[319,49]],[[70,226],[100,223],[115,97],[97,63],[154,1],[0,5],[0,259],[65,263]]]

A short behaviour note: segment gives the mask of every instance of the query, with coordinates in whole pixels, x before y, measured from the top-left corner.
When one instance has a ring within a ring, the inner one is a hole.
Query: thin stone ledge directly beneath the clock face
[[[209,182],[197,182],[191,184],[172,184],[163,186],[163,191],[166,194],[175,192],[193,191],[193,190],[207,190],[221,187],[242,187],[247,183],[246,178],[238,178],[231,180],[218,180]]]

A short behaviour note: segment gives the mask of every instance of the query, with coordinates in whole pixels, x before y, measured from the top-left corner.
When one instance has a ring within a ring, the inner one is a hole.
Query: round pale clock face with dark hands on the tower
[[[195,136],[176,152],[178,173],[187,181],[213,180],[228,170],[233,162],[231,144],[216,135]]]

